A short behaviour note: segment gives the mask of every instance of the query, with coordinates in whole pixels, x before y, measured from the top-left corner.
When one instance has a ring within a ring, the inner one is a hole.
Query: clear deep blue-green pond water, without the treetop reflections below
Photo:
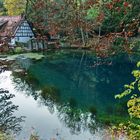
[[[56,52],[35,63],[29,71],[40,88],[54,86],[59,90],[60,103],[73,101],[80,109],[95,107],[98,112],[107,113],[119,102],[114,96],[133,80],[135,63],[125,56],[117,59],[95,58],[86,52]]]

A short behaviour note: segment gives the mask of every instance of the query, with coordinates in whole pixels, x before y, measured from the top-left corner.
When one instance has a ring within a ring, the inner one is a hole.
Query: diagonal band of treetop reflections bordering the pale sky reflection
[[[30,85],[26,80],[27,78],[20,78],[18,75],[13,77],[16,90],[27,91],[24,93],[28,96],[31,95],[39,104],[47,106],[50,113],[56,111],[59,120],[67,128],[70,128],[72,134],[80,134],[84,130],[90,130],[92,133],[95,133],[98,129],[95,115],[78,108],[77,101],[74,98],[64,102],[61,100],[60,90],[56,87],[46,85],[43,89],[34,89],[34,86]]]

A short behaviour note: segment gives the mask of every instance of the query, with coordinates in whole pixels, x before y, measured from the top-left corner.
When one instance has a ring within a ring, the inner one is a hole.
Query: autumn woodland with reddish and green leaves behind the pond
[[[131,52],[128,38],[138,33],[139,0],[28,2],[28,18],[34,23],[39,38],[59,34],[60,43],[92,48],[101,57],[118,51]],[[116,45],[116,42],[121,43]]]

